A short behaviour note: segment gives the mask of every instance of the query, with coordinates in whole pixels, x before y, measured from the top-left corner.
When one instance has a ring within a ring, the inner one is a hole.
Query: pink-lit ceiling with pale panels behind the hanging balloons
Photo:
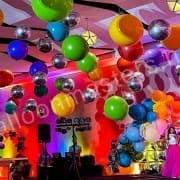
[[[109,0],[99,0],[100,3],[106,3],[106,6],[98,4],[99,7],[94,7],[97,5],[96,2],[96,0],[74,1],[73,11],[80,14],[81,20],[77,26],[70,30],[70,34],[81,35],[85,30],[93,31],[98,40],[91,51],[97,56],[111,52],[111,48],[117,48],[117,45],[109,37],[108,25],[118,13],[135,15],[144,25],[148,25],[154,19],[165,19],[169,23],[180,23],[180,14],[171,12],[166,0],[111,0],[110,5],[107,4],[110,2]],[[52,67],[51,60],[54,54],[60,52],[60,43],[54,43],[54,49],[49,53],[42,53],[37,49],[37,40],[46,35],[47,22],[35,16],[31,9],[30,0],[0,0],[0,9],[4,14],[4,23],[0,26],[0,38],[2,40],[0,42],[0,69],[9,69],[15,74],[28,72],[31,63],[36,59],[42,60],[49,67]],[[10,26],[7,27],[7,25]],[[15,39],[15,27],[20,25],[31,27],[31,37],[28,41],[34,44],[28,46],[28,57],[16,61],[10,58],[6,52],[8,41],[11,38]],[[34,30],[35,28],[42,30]],[[142,42],[150,43],[151,41],[152,39],[148,36],[147,31],[144,30]]]

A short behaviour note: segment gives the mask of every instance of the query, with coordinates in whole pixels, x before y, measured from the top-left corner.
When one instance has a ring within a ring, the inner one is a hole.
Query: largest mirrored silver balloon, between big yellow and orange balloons
[[[164,40],[170,34],[171,28],[163,19],[153,20],[148,26],[149,35],[155,40]]]

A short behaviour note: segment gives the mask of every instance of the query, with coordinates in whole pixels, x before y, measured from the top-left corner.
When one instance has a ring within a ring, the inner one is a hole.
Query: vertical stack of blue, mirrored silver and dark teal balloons
[[[35,84],[34,94],[37,97],[45,96],[48,93],[48,88],[46,86],[48,75],[47,65],[41,61],[36,61],[31,64],[29,73]]]

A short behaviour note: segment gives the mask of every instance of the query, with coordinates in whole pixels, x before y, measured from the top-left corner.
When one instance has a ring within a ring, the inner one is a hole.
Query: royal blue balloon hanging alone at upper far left
[[[24,59],[28,53],[28,46],[22,40],[13,40],[9,43],[7,52],[15,60]]]

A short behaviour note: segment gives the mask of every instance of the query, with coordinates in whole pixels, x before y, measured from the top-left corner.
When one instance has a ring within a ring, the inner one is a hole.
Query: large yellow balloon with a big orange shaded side
[[[143,25],[130,14],[116,16],[109,25],[109,35],[119,46],[129,46],[143,36]]]

